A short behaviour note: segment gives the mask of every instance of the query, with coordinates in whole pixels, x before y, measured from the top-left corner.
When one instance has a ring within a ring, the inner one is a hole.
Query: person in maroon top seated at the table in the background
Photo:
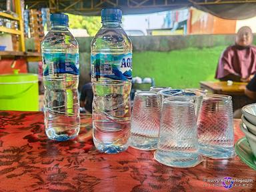
[[[253,33],[249,27],[241,27],[237,32],[235,45],[223,51],[215,78],[221,81],[249,82],[256,73],[256,47],[251,45]]]

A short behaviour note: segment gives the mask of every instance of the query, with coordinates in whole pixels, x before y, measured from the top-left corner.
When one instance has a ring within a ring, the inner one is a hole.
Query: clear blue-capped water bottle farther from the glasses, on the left
[[[45,87],[45,132],[66,141],[80,129],[78,43],[68,29],[69,17],[51,14],[51,31],[41,43]]]

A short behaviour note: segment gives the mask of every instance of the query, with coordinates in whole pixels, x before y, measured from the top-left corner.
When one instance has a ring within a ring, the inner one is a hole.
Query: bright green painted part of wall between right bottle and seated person
[[[133,77],[153,77],[157,86],[199,87],[200,81],[215,80],[217,61],[224,49],[225,46],[219,46],[134,52]]]

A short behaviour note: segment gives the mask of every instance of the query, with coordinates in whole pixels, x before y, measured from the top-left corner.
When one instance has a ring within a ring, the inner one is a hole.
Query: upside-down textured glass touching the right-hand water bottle
[[[135,93],[131,115],[130,145],[136,149],[157,149],[161,99],[154,91]]]

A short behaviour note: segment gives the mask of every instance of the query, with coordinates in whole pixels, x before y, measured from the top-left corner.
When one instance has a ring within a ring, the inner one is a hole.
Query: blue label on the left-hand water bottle
[[[79,75],[79,54],[43,53],[43,75],[59,73]]]

